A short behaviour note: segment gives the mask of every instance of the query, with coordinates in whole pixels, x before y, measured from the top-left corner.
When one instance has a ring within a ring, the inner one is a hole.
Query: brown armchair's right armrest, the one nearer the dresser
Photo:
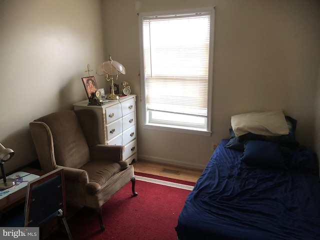
[[[89,147],[92,161],[123,161],[124,146],[120,145],[94,145]]]

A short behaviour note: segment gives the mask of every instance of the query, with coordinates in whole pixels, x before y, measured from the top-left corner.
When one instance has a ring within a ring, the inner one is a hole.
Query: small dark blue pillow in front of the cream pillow
[[[285,160],[281,149],[275,142],[250,140],[244,143],[241,161],[253,166],[284,169]]]

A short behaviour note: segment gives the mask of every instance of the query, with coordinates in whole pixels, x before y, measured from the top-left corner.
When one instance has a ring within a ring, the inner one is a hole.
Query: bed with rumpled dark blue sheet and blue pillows
[[[249,132],[239,141],[229,129],[185,200],[179,240],[320,239],[317,157],[285,119],[290,137]]]

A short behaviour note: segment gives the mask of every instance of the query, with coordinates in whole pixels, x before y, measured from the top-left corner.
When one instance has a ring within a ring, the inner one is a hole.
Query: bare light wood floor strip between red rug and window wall
[[[196,182],[202,170],[192,169],[180,166],[174,166],[163,163],[155,163],[150,161],[138,160],[133,163],[134,171],[148,173],[152,175],[165,176],[179,180]],[[165,168],[165,169],[164,169]],[[164,172],[162,171],[164,169]],[[172,170],[172,171],[171,171]],[[179,174],[172,174],[168,172],[178,171]]]

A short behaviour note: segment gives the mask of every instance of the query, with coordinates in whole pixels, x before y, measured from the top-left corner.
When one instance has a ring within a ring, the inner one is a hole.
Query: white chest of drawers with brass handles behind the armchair
[[[88,105],[88,100],[73,104],[75,110],[89,108],[98,117],[99,143],[124,145],[124,160],[137,160],[135,95],[109,100],[102,106]]]

